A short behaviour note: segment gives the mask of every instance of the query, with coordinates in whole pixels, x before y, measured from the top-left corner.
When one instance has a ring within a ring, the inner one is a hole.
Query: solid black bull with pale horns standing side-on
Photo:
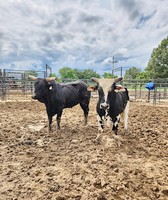
[[[80,104],[85,117],[85,124],[87,123],[90,92],[87,91],[87,85],[82,81],[72,83],[56,83],[55,78],[36,78],[29,76],[35,80],[34,96],[46,106],[48,115],[48,130],[51,131],[52,117],[57,115],[57,128],[60,129],[61,115],[64,108],[71,108]]]

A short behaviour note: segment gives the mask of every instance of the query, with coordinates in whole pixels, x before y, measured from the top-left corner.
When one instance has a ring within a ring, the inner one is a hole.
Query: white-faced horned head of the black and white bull
[[[108,109],[110,107],[109,100],[112,98],[112,92],[117,89],[116,83],[121,81],[122,78],[116,79],[100,79],[92,78],[92,81],[96,82],[95,90],[98,90],[99,93],[99,103],[101,109]],[[93,89],[93,87],[92,87]]]

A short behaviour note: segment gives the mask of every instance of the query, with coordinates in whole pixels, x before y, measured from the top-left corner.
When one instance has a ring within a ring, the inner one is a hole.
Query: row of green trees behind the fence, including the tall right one
[[[90,79],[100,78],[101,75],[92,69],[71,69],[64,67],[59,70],[60,79]],[[56,76],[51,74],[50,76]],[[112,78],[111,73],[104,72],[104,78]],[[116,76],[114,76],[116,77]],[[114,78],[113,77],[113,78]],[[154,48],[147,67],[142,71],[140,68],[131,67],[125,71],[124,79],[157,79],[168,78],[168,37],[164,38],[157,48]]]

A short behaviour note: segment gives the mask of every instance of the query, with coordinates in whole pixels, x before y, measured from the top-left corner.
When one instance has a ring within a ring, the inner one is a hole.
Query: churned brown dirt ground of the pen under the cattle
[[[0,103],[0,200],[168,199],[168,107],[130,103],[120,146],[97,136],[96,98],[88,125],[79,106],[65,109],[61,131],[47,133],[37,101]]]

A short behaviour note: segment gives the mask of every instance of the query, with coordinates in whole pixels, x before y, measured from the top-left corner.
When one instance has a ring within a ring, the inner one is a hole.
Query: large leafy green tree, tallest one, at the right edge
[[[153,49],[145,71],[149,73],[149,78],[168,77],[168,36]]]

